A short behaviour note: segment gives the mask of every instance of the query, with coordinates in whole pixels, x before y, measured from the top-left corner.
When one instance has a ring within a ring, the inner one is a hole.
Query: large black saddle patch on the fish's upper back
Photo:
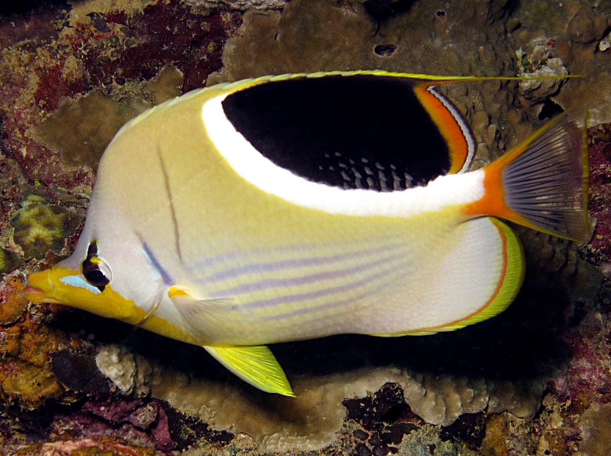
[[[450,151],[414,81],[287,79],[232,93],[222,106],[256,150],[298,176],[343,189],[404,190],[450,169]]]

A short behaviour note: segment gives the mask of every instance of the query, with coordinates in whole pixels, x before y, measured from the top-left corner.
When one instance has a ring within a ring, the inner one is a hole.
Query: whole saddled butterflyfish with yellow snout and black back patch
[[[584,118],[564,113],[468,171],[474,137],[435,87],[477,79],[287,74],[149,109],[104,152],[75,252],[27,295],[202,346],[287,396],[266,344],[495,316],[524,277],[505,220],[588,241],[588,167]]]

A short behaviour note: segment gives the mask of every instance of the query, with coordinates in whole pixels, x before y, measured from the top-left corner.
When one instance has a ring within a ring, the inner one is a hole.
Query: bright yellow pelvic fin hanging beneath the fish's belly
[[[276,357],[266,346],[203,347],[244,382],[266,393],[295,397]]]

